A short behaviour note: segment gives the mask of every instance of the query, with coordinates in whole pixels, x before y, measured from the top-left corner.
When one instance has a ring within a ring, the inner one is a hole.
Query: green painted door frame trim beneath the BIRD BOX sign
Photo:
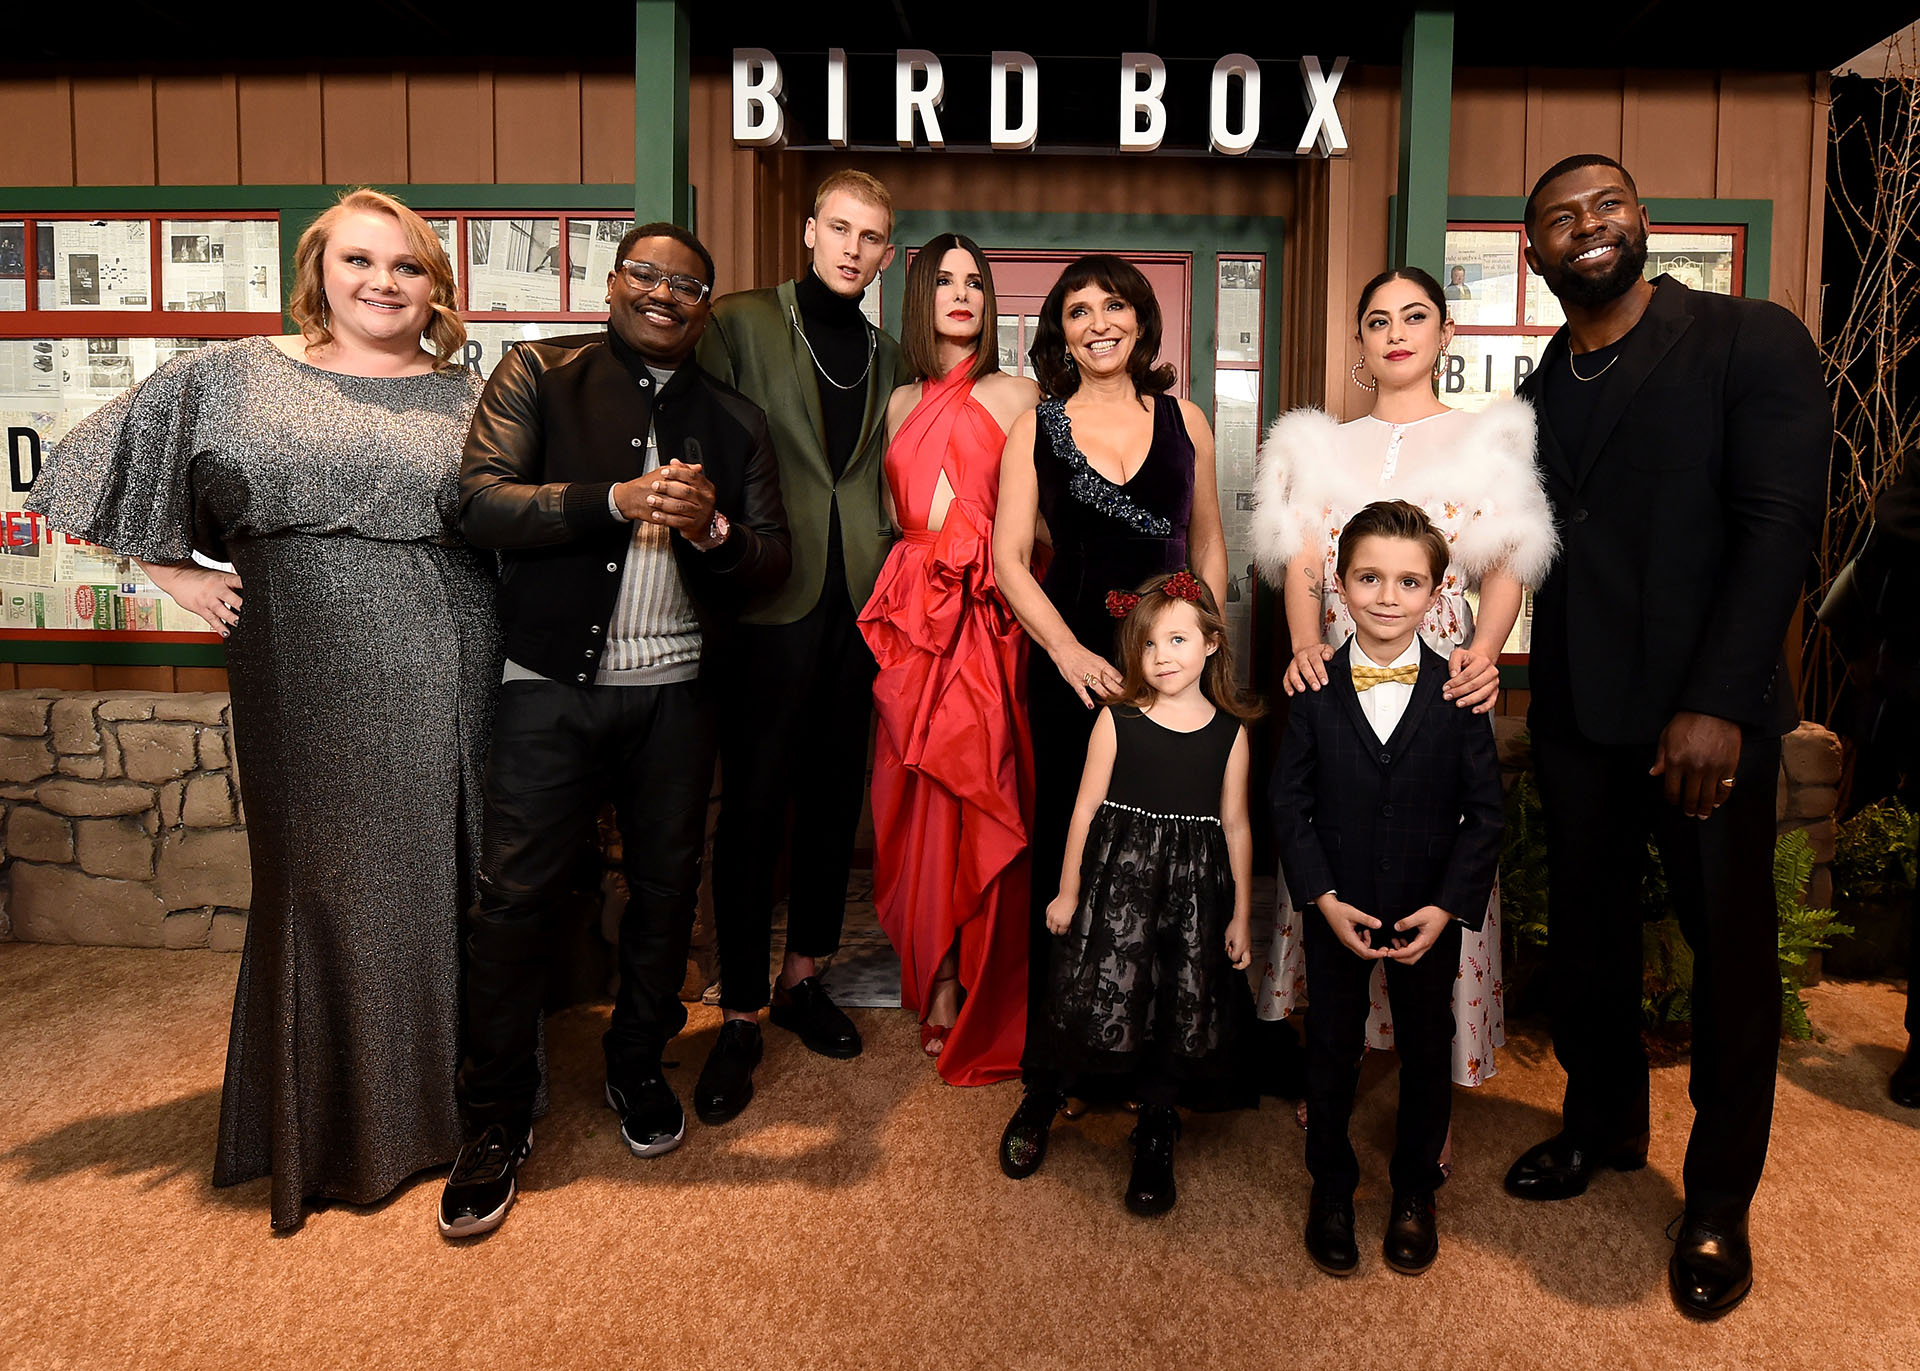
[[[1194,259],[1190,342],[1187,376],[1190,399],[1213,413],[1213,365],[1217,357],[1215,309],[1219,257],[1265,253],[1267,321],[1260,363],[1261,430],[1279,413],[1281,382],[1281,280],[1284,278],[1286,221],[1256,215],[1098,215],[1098,213],[991,213],[906,209],[895,215],[895,242],[922,244],[935,234],[966,234],[981,248],[1083,252],[1190,252]],[[900,332],[900,303],[906,296],[906,253],[895,253],[881,273],[881,319],[889,332]]]

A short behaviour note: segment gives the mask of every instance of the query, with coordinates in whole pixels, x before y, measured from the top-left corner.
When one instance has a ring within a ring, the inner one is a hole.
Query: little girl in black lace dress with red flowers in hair
[[[1079,1073],[1127,1075],[1140,1100],[1127,1208],[1173,1208],[1181,1081],[1223,1071],[1250,1006],[1242,720],[1227,626],[1190,572],[1112,593],[1127,678],[1087,745],[1046,995],[1052,1050]]]

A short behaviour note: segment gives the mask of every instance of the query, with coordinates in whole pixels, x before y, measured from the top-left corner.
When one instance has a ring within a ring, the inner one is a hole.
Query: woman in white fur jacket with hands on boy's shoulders
[[[1354,384],[1373,392],[1373,413],[1342,424],[1319,409],[1296,409],[1275,421],[1260,447],[1254,545],[1261,572],[1286,605],[1286,693],[1321,689],[1327,659],[1354,632],[1332,588],[1342,524],[1377,499],[1407,499],[1427,511],[1453,549],[1421,637],[1448,657],[1446,697],[1459,709],[1488,712],[1500,693],[1500,647],[1521,613],[1524,586],[1540,584],[1555,551],[1553,517],[1534,469],[1534,413],[1519,399],[1498,399],[1478,413],[1440,403],[1434,380],[1453,323],[1440,282],[1425,271],[1375,277],[1359,296],[1356,323],[1361,361]],[[1478,589],[1478,614],[1467,603],[1469,589]],[[1494,1048],[1505,1043],[1498,887],[1482,929],[1461,939],[1459,972],[1453,1079],[1478,1085],[1494,1073]],[[1300,912],[1283,879],[1260,1016],[1284,1018],[1304,987]],[[1394,1045],[1379,970],[1367,1043]]]

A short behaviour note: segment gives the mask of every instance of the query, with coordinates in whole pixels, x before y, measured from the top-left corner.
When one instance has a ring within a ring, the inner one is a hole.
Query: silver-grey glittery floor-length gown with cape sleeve
[[[459,543],[465,371],[342,376],[265,338],[154,373],[58,444],[29,507],[142,561],[232,561],[253,910],[215,1185],[367,1204],[453,1158],[459,914],[499,634]]]

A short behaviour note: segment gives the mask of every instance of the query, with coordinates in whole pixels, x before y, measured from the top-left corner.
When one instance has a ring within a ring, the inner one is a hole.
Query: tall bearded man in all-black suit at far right
[[[1526,380],[1561,559],[1534,597],[1528,724],[1548,820],[1561,1133],[1507,1191],[1580,1194],[1647,1158],[1634,883],[1659,847],[1693,949],[1693,1135],[1668,1263],[1682,1311],[1753,1283],[1780,1041],[1772,893],[1782,659],[1826,503],[1832,411],[1807,328],[1644,280],[1647,215],[1611,157],[1551,167],[1526,263],[1567,309]]]

